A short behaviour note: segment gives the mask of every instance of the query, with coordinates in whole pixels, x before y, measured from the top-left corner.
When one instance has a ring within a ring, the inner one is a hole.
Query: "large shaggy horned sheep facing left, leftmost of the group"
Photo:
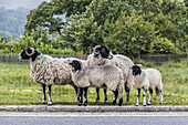
[[[45,103],[45,86],[48,86],[49,105],[52,105],[51,87],[52,85],[65,85],[71,84],[76,93],[76,100],[79,100],[77,87],[71,80],[71,65],[70,62],[76,60],[74,58],[55,59],[49,55],[44,55],[33,48],[29,48],[19,54],[20,60],[30,60],[31,76],[33,81],[41,84],[43,88],[42,104]]]

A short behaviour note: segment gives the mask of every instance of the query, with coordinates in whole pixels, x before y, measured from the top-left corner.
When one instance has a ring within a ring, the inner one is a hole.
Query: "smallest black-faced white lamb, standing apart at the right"
[[[163,104],[163,82],[161,82],[161,74],[156,69],[146,69],[143,70],[142,65],[133,65],[130,67],[133,70],[135,87],[137,88],[137,102],[136,106],[139,105],[139,94],[140,88],[144,88],[143,92],[143,105],[146,106],[146,93],[149,90],[149,100],[147,105],[152,104],[153,98],[153,88],[156,90],[156,95],[160,95],[160,103]]]

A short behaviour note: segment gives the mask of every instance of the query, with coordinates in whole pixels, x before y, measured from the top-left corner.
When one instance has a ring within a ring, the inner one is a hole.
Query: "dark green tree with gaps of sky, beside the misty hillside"
[[[32,29],[38,25],[49,29],[50,33],[58,32],[61,35],[61,29],[65,23],[62,20],[63,14],[66,17],[82,12],[91,0],[52,0],[43,1],[36,9],[31,10],[27,17],[25,31],[30,34]]]

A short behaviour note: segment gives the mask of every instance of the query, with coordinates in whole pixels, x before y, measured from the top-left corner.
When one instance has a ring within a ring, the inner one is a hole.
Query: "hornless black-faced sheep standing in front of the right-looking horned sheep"
[[[118,95],[121,106],[124,94],[124,77],[123,72],[117,66],[85,66],[81,61],[74,60],[72,63],[72,81],[80,88],[80,103],[82,105],[82,94],[84,92],[84,106],[87,105],[87,88],[88,87],[107,87],[114,92],[113,105],[116,104]]]

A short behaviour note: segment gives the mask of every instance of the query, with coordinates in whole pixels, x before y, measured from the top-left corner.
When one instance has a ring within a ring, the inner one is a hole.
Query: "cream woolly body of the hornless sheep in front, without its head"
[[[111,91],[117,88],[119,98],[124,94],[124,77],[117,66],[82,66],[82,70],[72,72],[72,80],[77,87],[103,87],[105,84]]]

